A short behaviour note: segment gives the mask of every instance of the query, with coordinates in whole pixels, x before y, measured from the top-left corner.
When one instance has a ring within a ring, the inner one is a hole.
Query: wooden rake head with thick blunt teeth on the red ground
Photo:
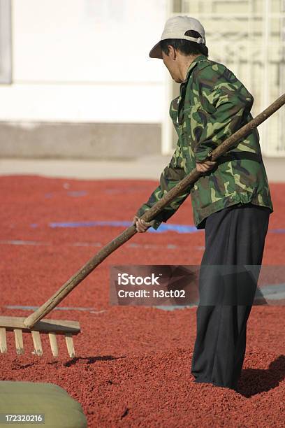
[[[58,357],[57,334],[62,334],[66,339],[66,347],[69,357],[75,357],[73,336],[80,333],[80,324],[77,321],[44,320],[38,321],[32,329],[24,325],[25,318],[0,317],[0,352],[7,352],[6,331],[13,331],[17,355],[24,354],[23,333],[31,333],[34,343],[34,355],[41,357],[43,347],[41,344],[41,333],[48,334],[52,355]]]

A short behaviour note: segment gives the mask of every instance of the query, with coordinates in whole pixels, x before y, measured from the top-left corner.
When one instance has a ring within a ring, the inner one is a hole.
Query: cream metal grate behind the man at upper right
[[[285,92],[284,0],[172,1],[171,15],[196,17],[205,27],[209,58],[231,69],[254,96],[255,116]],[[179,85],[168,80],[170,99]],[[163,127],[172,127],[169,117]],[[267,156],[285,156],[285,113],[279,110],[258,127]],[[164,130],[163,152],[173,152],[175,134]]]

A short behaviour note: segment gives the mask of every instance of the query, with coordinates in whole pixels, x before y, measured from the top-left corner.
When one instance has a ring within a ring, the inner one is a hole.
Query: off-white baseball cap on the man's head
[[[189,30],[197,31],[201,37],[196,38],[185,36],[186,31]],[[169,20],[166,21],[163,33],[161,34],[161,40],[166,40],[166,38],[182,38],[184,40],[206,44],[205,29],[203,25],[195,18],[185,15],[170,17]],[[159,43],[156,43],[149,52],[149,57],[162,59],[160,41]]]

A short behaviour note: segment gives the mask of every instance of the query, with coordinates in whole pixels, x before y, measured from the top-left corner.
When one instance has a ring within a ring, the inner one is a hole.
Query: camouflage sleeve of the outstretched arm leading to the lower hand
[[[175,185],[177,185],[177,183],[179,183],[180,180],[182,180],[182,178],[187,175],[182,166],[177,166],[179,152],[180,146],[177,145],[177,148],[173,154],[173,157],[170,160],[170,163],[166,166],[165,169],[163,169],[163,172],[161,173],[159,186],[156,187],[154,192],[152,192],[148,201],[145,204],[142,204],[142,206],[138,209],[136,213],[138,217],[144,214],[145,211],[149,210],[149,208],[152,208],[152,206],[154,206],[157,201],[160,201],[164,194],[166,194],[170,189],[175,187]],[[173,201],[170,202],[168,206],[163,208],[163,211],[156,215],[152,227],[154,227],[154,229],[158,229],[161,222],[166,222],[168,218],[170,218],[175,213],[175,211],[177,211],[182,202],[184,202],[190,191],[191,187],[189,187],[187,191],[181,193],[178,197],[173,199]]]

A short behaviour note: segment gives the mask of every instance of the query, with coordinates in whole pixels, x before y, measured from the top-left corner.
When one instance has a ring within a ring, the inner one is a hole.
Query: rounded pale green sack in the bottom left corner
[[[45,415],[45,423],[9,422],[2,427],[87,428],[81,405],[53,383],[0,381],[0,414]],[[2,416],[3,418],[3,416]]]

